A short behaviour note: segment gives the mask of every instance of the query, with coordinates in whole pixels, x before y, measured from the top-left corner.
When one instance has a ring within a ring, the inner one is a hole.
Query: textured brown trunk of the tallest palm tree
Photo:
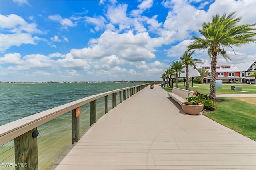
[[[212,50],[211,75],[210,75],[210,94],[209,94],[209,97],[212,98],[212,99],[217,98],[215,96],[216,66],[217,66],[217,53]]]

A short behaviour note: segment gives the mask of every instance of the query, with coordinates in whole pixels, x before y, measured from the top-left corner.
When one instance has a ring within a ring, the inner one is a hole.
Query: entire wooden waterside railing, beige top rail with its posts
[[[112,107],[114,108],[117,104],[116,93],[119,93],[119,103],[122,103],[122,92],[123,101],[125,101],[126,96],[129,98],[148,85],[149,84],[137,85],[92,95],[2,125],[0,126],[0,145],[2,146],[11,140],[14,140],[15,164],[25,165],[27,167],[26,169],[36,170],[38,169],[37,127],[72,111],[72,144],[74,144],[80,139],[78,115],[81,106],[90,103],[90,125],[92,125],[96,123],[97,120],[97,99],[104,97],[105,113],[108,113],[108,95],[112,94]]]

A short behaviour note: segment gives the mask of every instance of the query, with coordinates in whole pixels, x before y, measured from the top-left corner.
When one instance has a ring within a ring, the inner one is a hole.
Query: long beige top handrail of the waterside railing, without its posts
[[[42,111],[40,113],[36,113],[34,115],[30,115],[28,117],[24,117],[22,119],[18,119],[16,121],[7,123],[5,125],[0,126],[0,145],[9,142],[10,140],[13,140],[14,138],[28,132],[29,130],[32,130],[40,125],[43,125],[44,123],[47,123],[48,121],[51,121],[55,119],[56,117],[59,117],[61,115],[64,115],[65,113],[68,113],[69,111],[72,111],[78,107],[81,107],[82,105],[85,105],[87,103],[90,103],[96,99],[100,99],[102,97],[108,96],[110,94],[124,91],[127,89],[134,89],[136,87],[143,87],[147,86],[147,84],[142,85],[136,85],[132,87],[125,87],[122,89],[112,90],[96,95],[92,95],[89,97],[85,97],[70,103],[66,103],[64,105],[60,105],[58,107],[54,107],[52,109],[48,109],[46,111]],[[130,95],[131,96],[131,95]]]

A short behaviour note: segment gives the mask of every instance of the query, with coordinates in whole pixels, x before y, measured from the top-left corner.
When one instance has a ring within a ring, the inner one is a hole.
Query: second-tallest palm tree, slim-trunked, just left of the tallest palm
[[[182,62],[185,64],[186,66],[186,86],[185,89],[189,90],[189,84],[188,84],[188,66],[194,66],[196,67],[196,64],[202,64],[204,63],[204,61],[200,60],[200,59],[193,59],[192,55],[195,53],[194,51],[185,51],[182,55],[182,57],[180,57],[180,59],[182,60]]]

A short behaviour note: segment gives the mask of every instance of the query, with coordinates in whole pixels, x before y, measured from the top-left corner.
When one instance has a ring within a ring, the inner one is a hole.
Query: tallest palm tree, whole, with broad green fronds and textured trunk
[[[199,30],[203,38],[193,36],[194,42],[188,45],[188,49],[208,49],[208,55],[211,58],[211,73],[210,73],[210,97],[216,99],[215,82],[216,82],[216,65],[217,53],[222,55],[226,61],[230,59],[224,51],[224,47],[232,48],[232,45],[239,47],[242,44],[247,44],[255,41],[256,33],[253,26],[255,24],[244,24],[237,26],[241,17],[235,18],[235,12],[230,15],[224,13],[221,17],[216,14],[212,17],[212,22],[204,22],[203,29]],[[232,48],[234,51],[234,49]]]

